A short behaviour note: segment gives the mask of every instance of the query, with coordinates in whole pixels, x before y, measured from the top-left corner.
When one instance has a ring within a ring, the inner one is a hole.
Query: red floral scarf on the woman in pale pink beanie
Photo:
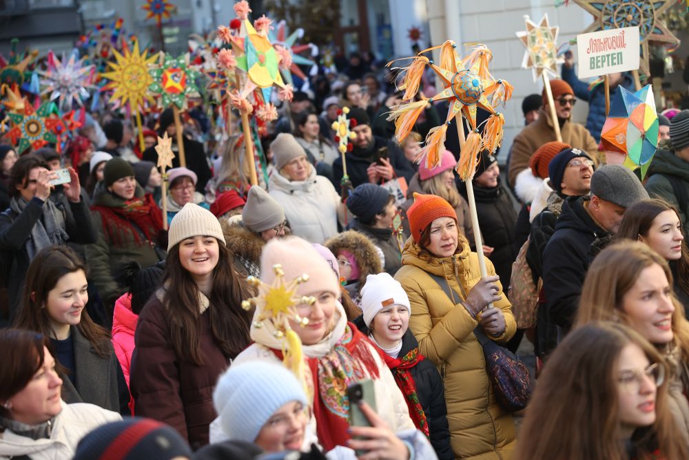
[[[361,379],[380,377],[369,346],[373,347],[364,334],[348,323],[345,333],[328,354],[322,358],[305,357],[312,379],[307,384],[314,389],[316,434],[324,452],[347,446],[350,439],[347,387]],[[280,350],[271,348],[271,351],[282,361]]]

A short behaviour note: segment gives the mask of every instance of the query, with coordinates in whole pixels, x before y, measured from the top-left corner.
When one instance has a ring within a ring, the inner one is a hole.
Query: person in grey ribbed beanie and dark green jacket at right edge
[[[652,198],[662,198],[679,210],[686,229],[689,214],[689,110],[670,121],[670,141],[661,141],[648,169],[646,190]],[[685,230],[685,236],[686,236]]]

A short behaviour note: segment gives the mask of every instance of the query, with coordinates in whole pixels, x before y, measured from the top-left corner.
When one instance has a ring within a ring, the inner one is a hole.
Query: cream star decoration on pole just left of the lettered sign
[[[526,46],[522,68],[533,70],[533,79],[536,81],[544,72],[550,72],[557,77],[557,64],[564,59],[557,56],[557,33],[559,28],[548,24],[548,14],[544,14],[540,23],[536,24],[528,15],[524,14],[526,30],[517,32],[517,37]]]

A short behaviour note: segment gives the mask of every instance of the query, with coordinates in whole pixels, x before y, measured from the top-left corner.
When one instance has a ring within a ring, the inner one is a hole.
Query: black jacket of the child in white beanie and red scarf
[[[369,328],[364,323],[363,315],[354,319],[353,322],[362,334],[366,334],[368,337]],[[398,356],[402,357],[414,348],[418,348],[418,346],[419,343],[416,341],[413,332],[411,332],[411,329],[407,329],[404,337],[402,337],[402,349]],[[429,434],[431,435],[431,445],[435,453],[438,454],[438,459],[454,459],[450,447],[450,430],[447,423],[445,392],[438,368],[428,359],[424,359],[411,368],[409,373],[411,378],[414,379],[416,395],[419,397],[419,403],[424,410],[424,414],[426,414]]]

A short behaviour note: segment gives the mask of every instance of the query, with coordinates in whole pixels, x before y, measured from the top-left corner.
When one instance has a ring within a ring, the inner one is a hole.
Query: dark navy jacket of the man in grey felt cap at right
[[[569,198],[543,253],[545,303],[539,307],[539,353],[547,354],[569,332],[590,263],[590,247],[609,233],[597,226],[586,210],[589,197]],[[542,308],[544,307],[544,308]]]

